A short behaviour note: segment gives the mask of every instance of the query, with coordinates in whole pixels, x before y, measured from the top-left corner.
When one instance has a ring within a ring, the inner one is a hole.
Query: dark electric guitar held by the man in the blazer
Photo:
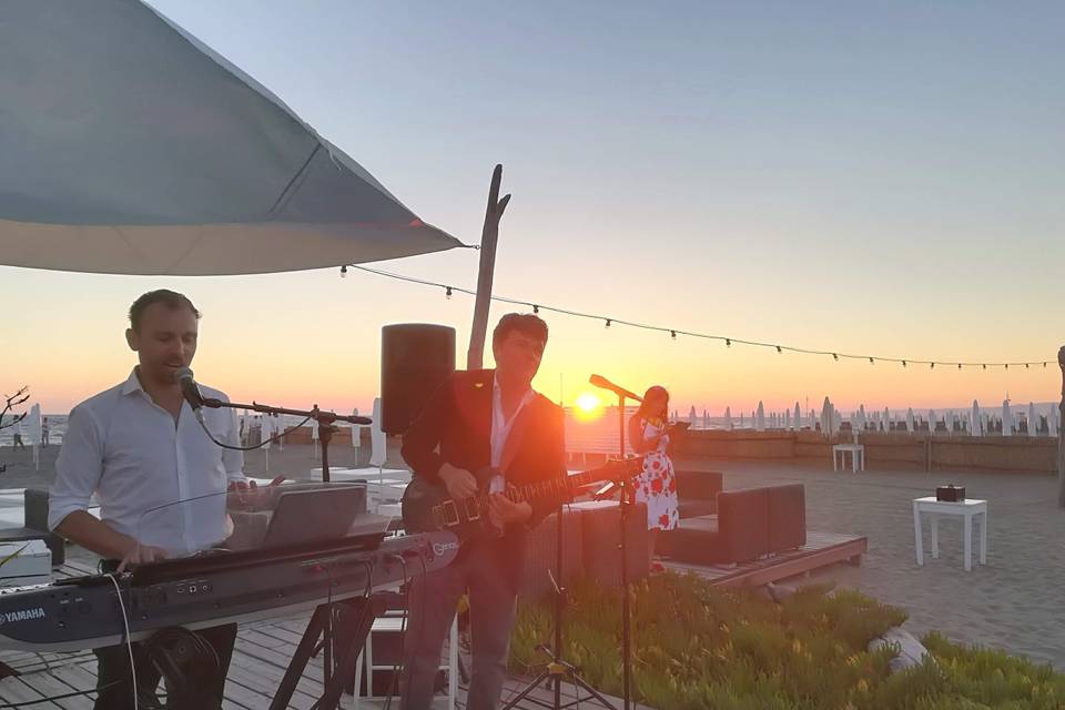
[[[643,470],[643,457],[635,456],[625,460],[609,462],[590,470],[572,476],[549,478],[525,486],[510,486],[503,493],[509,500],[520,503],[534,498],[565,498],[571,500],[574,489],[600,480],[631,479]],[[488,515],[490,494],[488,486],[498,474],[485,467],[474,473],[477,479],[477,494],[464,500],[454,500],[443,483],[434,484],[415,476],[403,494],[403,527],[407,532],[432,532],[447,530],[465,541],[478,534],[498,528]]]

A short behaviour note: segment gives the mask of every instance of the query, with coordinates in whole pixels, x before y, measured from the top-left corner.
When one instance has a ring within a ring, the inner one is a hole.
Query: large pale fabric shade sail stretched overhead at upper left
[[[254,274],[460,245],[142,2],[3,2],[0,87],[0,264]]]

